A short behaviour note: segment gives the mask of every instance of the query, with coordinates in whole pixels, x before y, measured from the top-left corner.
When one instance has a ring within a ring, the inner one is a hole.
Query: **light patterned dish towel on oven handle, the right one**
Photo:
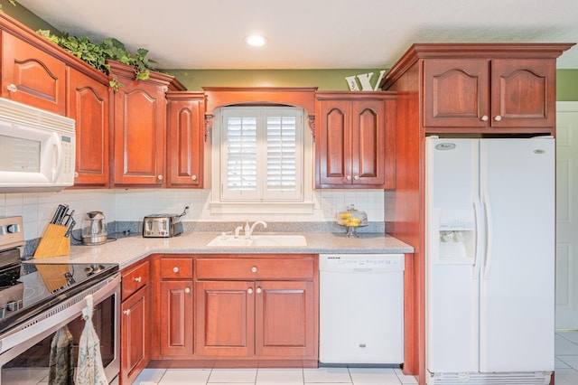
[[[87,307],[82,309],[84,330],[80,335],[79,364],[76,370],[76,385],[108,385],[100,356],[100,341],[92,324],[91,295],[86,296]]]

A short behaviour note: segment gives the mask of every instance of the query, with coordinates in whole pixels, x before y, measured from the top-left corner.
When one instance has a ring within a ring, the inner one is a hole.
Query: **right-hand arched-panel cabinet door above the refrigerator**
[[[491,126],[555,126],[555,60],[491,61]]]

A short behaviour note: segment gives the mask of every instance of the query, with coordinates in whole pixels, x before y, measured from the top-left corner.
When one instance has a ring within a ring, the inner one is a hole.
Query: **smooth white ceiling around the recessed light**
[[[18,0],[160,69],[380,69],[413,42],[578,42],[576,0]],[[266,35],[262,48],[248,34]],[[559,69],[578,69],[578,48]]]

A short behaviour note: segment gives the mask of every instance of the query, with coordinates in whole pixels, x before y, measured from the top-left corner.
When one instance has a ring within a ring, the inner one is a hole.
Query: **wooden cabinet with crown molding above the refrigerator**
[[[425,133],[555,135],[556,58],[572,46],[414,44],[380,87],[401,91],[408,102],[416,98],[420,110],[408,120]]]

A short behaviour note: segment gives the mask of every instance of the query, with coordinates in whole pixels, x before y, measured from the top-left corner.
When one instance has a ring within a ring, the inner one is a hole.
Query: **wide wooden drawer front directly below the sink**
[[[313,258],[201,258],[197,279],[312,279]]]

